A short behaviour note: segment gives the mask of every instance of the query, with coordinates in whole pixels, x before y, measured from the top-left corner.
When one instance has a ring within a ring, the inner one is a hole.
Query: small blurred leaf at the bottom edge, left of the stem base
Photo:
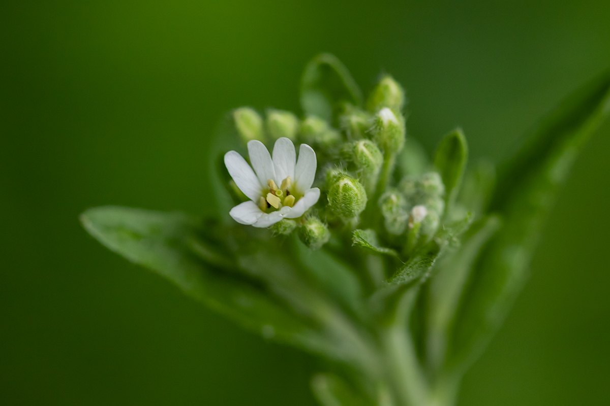
[[[373,406],[362,394],[356,394],[343,379],[334,374],[315,374],[312,391],[322,406]]]

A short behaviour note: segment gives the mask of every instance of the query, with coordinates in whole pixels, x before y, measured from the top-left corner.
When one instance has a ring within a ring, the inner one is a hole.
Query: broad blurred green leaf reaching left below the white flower
[[[103,245],[169,279],[188,296],[266,338],[315,352],[328,343],[256,285],[204,264],[191,253],[201,221],[180,212],[105,206],[88,209],[82,225]]]

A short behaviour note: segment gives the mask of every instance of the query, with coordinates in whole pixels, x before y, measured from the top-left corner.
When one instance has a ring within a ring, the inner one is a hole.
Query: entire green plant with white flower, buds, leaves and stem
[[[312,379],[322,405],[453,405],[526,279],[558,186],[610,111],[610,74],[561,103],[497,176],[487,162],[466,167],[459,129],[430,162],[406,137],[405,100],[385,76],[365,102],[345,66],[320,55],[303,75],[302,120],[251,108],[224,120],[217,216],[110,206],[81,221],[243,327],[326,359]]]

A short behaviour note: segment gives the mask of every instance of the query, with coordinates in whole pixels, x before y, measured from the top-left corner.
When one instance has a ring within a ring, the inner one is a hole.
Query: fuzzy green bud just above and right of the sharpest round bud
[[[377,144],[369,139],[349,142],[343,145],[341,155],[343,159],[353,163],[358,180],[364,185],[367,193],[372,194],[383,164],[383,154]]]

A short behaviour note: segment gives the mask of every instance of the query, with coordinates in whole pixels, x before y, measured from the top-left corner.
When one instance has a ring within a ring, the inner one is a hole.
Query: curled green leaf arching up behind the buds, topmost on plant
[[[345,65],[331,54],[320,54],[307,63],[301,79],[305,115],[332,123],[345,103],[362,105],[362,92]]]

